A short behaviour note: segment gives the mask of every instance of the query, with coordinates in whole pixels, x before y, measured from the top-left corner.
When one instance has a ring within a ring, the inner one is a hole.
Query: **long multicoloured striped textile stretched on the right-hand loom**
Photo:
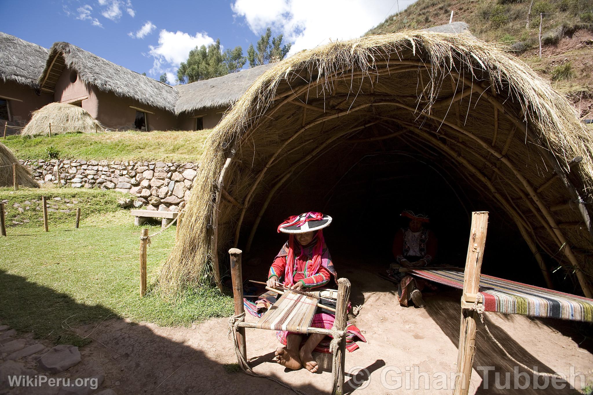
[[[409,273],[463,289],[462,269],[411,269]],[[485,274],[480,275],[480,294],[486,311],[593,322],[593,299],[581,296]]]

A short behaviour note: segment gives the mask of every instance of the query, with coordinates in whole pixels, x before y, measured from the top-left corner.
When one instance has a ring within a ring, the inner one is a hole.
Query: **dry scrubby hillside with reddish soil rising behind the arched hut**
[[[529,25],[527,17],[531,6]],[[591,0],[418,0],[366,34],[422,29],[464,21],[474,36],[505,43],[566,94],[581,117],[593,110],[593,1]],[[543,41],[539,57],[539,39]]]

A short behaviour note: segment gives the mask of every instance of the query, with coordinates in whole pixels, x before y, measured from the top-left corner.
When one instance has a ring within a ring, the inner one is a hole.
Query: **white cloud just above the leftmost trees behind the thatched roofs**
[[[151,71],[162,74],[166,65],[178,67],[181,62],[187,60],[187,55],[192,49],[213,43],[213,38],[206,33],[196,33],[192,36],[183,31],[173,33],[163,29],[158,36],[158,46],[149,46],[149,54],[154,57],[154,67]]]

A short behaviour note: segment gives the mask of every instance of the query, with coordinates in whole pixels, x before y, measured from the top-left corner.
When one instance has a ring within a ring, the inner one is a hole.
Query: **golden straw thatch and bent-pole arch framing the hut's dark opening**
[[[367,137],[371,127],[380,135]],[[496,44],[430,31],[331,43],[267,70],[206,143],[162,289],[216,277],[219,256],[250,244],[295,168],[357,160],[340,147],[377,137],[450,166],[516,224],[547,281],[543,254],[591,294],[591,135],[564,97]]]

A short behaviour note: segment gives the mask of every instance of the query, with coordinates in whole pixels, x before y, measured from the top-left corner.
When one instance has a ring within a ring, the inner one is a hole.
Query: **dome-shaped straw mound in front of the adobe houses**
[[[23,136],[49,134],[49,125],[52,125],[52,134],[59,133],[96,133],[105,131],[100,123],[95,121],[87,111],[81,107],[65,103],[50,103],[33,112],[33,117],[21,131]]]

